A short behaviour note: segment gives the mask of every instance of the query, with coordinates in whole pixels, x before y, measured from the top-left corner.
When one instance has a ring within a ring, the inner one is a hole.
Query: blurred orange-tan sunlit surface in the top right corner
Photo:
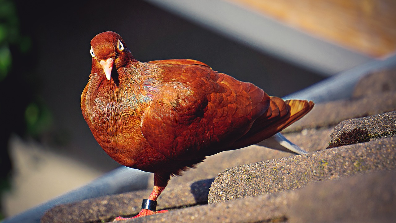
[[[395,0],[226,0],[369,56],[396,51]]]

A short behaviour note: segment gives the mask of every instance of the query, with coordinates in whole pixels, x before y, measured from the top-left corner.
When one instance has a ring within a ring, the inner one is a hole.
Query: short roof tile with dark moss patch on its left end
[[[396,135],[396,111],[348,119],[339,123],[331,134],[329,148],[368,142]]]

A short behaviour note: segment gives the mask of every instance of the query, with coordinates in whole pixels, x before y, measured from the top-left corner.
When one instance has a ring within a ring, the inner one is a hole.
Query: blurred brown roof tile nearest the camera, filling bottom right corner
[[[394,222],[396,172],[375,172],[304,188],[195,206],[132,222]]]

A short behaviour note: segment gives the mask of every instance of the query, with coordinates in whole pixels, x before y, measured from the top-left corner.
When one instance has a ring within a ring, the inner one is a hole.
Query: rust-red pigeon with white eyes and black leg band
[[[156,200],[171,175],[273,136],[314,106],[268,96],[196,60],[139,62],[111,31],[93,37],[90,53],[81,110],[93,136],[121,165],[154,173],[135,217],[166,212]]]

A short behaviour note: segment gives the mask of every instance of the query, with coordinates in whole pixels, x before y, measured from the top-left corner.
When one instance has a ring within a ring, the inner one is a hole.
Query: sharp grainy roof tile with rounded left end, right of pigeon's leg
[[[315,181],[395,167],[396,138],[386,138],[225,169],[212,183],[208,201],[292,190]]]

